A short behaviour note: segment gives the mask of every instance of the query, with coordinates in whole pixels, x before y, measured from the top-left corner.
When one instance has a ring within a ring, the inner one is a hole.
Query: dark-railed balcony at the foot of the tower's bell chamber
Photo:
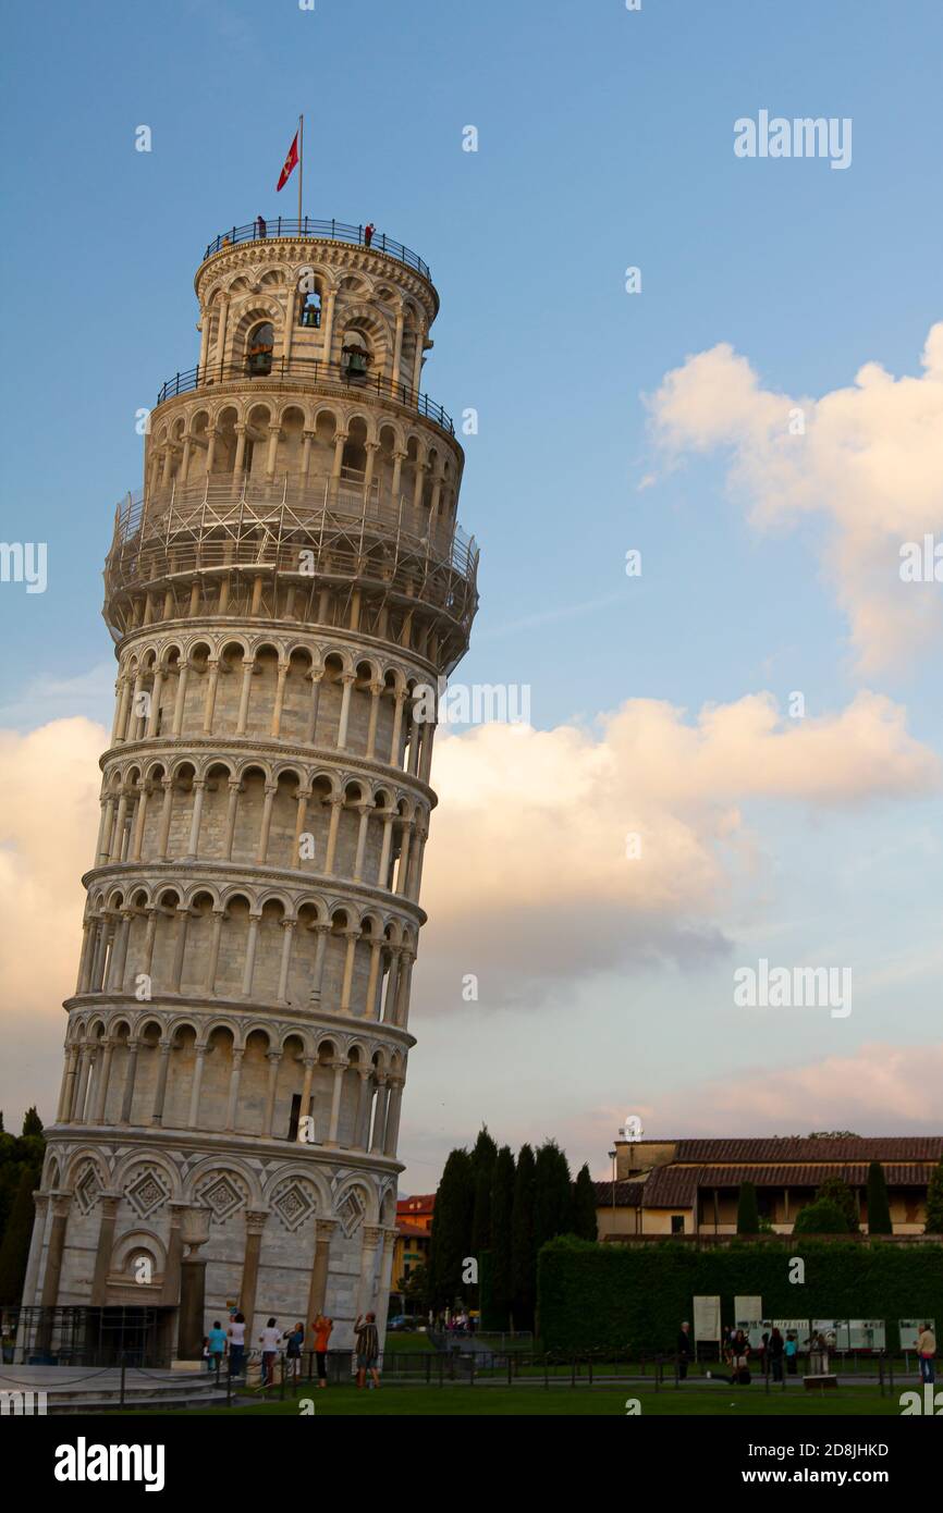
[[[318,389],[330,393],[369,393],[380,399],[394,399],[404,409],[424,416],[447,431],[456,434],[451,416],[440,404],[436,404],[427,393],[410,389],[409,384],[394,383],[384,374],[369,374],[366,369],[356,369],[348,363],[327,363],[319,357],[272,357],[263,354],[265,362],[242,359],[230,363],[204,363],[203,368],[189,368],[186,372],[174,374],[162,384],[157,393],[157,404],[174,399],[180,393],[197,393],[221,384],[251,383],[260,389],[266,383],[282,383],[294,389]]]

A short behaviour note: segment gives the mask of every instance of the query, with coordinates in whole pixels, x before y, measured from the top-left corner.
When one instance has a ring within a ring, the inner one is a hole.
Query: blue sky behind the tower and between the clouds
[[[5,35],[3,536],[48,543],[44,595],[0,590],[17,649],[5,723],[110,722],[100,572],[114,504],[141,484],[135,412],[197,360],[207,241],[295,213],[294,180],[282,195],[274,183],[303,110],[306,212],[372,219],[425,257],[442,313],[424,387],[454,416],[480,413],[460,517],[481,543],[481,611],[462,679],[527,682],[537,728],[596,734],[627,699],[695,720],[705,704],[802,690],[826,717],[870,688],[943,752],[938,640],[861,672],[828,514],[757,528],[725,446],[669,455],[651,430],[666,374],[717,343],[772,393],[816,399],[872,362],[920,374],[943,316],[935,0],[53,0],[15,8]],[[734,121],[760,109],[851,118],[851,168],[734,157]],[[139,124],[151,153],[135,151]],[[462,151],[468,124],[477,153]],[[630,265],[640,295],[625,292]],[[625,576],[628,548],[640,579]],[[440,1151],[483,1118],[512,1141],[560,1133],[601,1171],[613,1121],[637,1108],[649,1133],[681,1133],[681,1089],[699,1080],[842,1056],[836,1076],[854,1082],[866,1042],[938,1039],[938,790],[908,794],[904,778],[890,799],[746,794],[742,809],[758,870],[699,927],[736,959],[772,946],[854,961],[852,1020],[745,1024],[724,950],[684,967],[613,958],[515,1009],[450,1008],[430,899],[407,1186],[431,1185]],[[534,1074],[495,1076],[495,1053]],[[472,1076],[454,1077],[457,1059]],[[472,1092],[475,1076],[490,1086]],[[875,1132],[904,1132],[911,1111],[872,1108]],[[799,1098],[789,1130],[842,1127],[828,1108],[820,1126],[811,1115]],[[914,1129],[925,1115],[913,1109]]]

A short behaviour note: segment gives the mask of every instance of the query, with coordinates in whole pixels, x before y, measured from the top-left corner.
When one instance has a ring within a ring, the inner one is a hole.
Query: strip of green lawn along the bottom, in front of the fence
[[[743,1418],[754,1416],[802,1416],[802,1418],[833,1418],[836,1415],[864,1416],[899,1416],[899,1392],[893,1396],[881,1398],[876,1387],[843,1387],[825,1396],[813,1396],[810,1392],[796,1389],[786,1393],[770,1392],[760,1387],[664,1387],[654,1392],[627,1383],[624,1387],[381,1387],[380,1392],[357,1392],[353,1386],[328,1387],[324,1392],[313,1389],[301,1392],[300,1398],[310,1398],[318,1418],[357,1418],[360,1415],[381,1415],[397,1418],[427,1418],[427,1416],[608,1416],[625,1415],[627,1400],[637,1398],[642,1404],[642,1415],[657,1416],[724,1416]],[[300,1409],[295,1400],[285,1403],[253,1403],[235,1409],[194,1409],[201,1416],[248,1415],[248,1416],[297,1416]]]

